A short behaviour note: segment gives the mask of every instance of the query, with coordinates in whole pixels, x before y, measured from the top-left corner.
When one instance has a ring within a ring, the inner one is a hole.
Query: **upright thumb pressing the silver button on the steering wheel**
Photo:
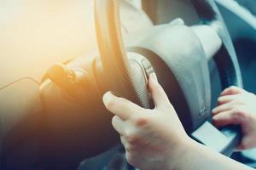
[[[166,107],[166,105],[171,105],[166,92],[160,86],[155,73],[149,76],[148,87],[152,94],[155,107]]]

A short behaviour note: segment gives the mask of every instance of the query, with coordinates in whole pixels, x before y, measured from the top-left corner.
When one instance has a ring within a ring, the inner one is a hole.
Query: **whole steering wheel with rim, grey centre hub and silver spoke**
[[[212,29],[222,41],[217,54],[210,56],[214,56],[222,88],[232,85],[242,87],[236,53],[216,4],[212,0],[191,0],[190,3],[201,19],[196,26],[199,29],[195,29],[195,32],[197,30],[197,34],[201,34],[204,28]],[[154,26],[137,35],[137,41],[131,42],[129,48],[125,49],[119,20],[119,1],[95,0],[95,17],[102,64],[97,74],[108,83],[108,89],[150,108],[152,102],[148,95],[147,80],[148,75],[155,72],[187,133],[202,144],[230,155],[239,143],[240,130],[239,127],[231,126],[217,129],[212,125],[207,52],[204,52],[200,38],[193,42],[197,50],[190,50],[191,43],[186,42],[189,34],[183,33],[191,33],[193,29],[183,24],[177,24],[180,29],[176,30],[172,29],[175,24]],[[183,37],[183,41],[178,37]],[[177,48],[183,50],[177,51]]]

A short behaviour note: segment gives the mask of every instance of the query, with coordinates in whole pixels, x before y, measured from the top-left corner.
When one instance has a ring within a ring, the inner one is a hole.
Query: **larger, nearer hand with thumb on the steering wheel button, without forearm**
[[[115,115],[112,124],[131,165],[147,170],[172,169],[186,150],[189,137],[155,74],[149,77],[148,86],[154,110],[143,109],[109,92],[103,96],[103,102]]]

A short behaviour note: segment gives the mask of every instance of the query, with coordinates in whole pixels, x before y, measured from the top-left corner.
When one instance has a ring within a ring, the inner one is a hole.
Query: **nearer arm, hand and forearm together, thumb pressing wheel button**
[[[155,74],[148,87],[154,110],[109,92],[103,96],[104,105],[115,115],[112,124],[131,165],[143,170],[250,169],[190,139]]]

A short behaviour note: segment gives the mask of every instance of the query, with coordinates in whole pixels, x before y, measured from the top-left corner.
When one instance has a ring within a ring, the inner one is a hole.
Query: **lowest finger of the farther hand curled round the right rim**
[[[237,119],[236,116],[233,116],[233,112],[233,110],[221,112],[218,115],[212,117],[212,122],[217,127],[224,127],[230,124],[240,124],[239,119]]]

